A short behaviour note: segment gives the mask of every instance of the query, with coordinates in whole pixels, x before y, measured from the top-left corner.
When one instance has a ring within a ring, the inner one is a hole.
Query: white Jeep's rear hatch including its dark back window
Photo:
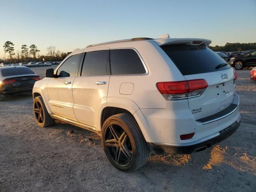
[[[216,114],[232,104],[234,70],[205,45],[170,44],[161,46],[186,80],[204,79],[208,87],[200,96],[187,98],[195,119]]]

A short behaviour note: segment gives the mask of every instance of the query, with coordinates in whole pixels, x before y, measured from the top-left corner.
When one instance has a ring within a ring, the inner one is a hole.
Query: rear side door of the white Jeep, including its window
[[[106,106],[109,78],[109,49],[86,52],[81,74],[72,86],[79,122],[95,127],[98,113]]]

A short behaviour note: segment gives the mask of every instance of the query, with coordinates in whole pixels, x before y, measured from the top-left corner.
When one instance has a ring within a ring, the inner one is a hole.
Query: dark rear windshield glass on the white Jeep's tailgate
[[[216,66],[226,62],[204,45],[190,46],[181,44],[160,47],[174,62],[182,75],[215,72],[230,68],[229,65],[216,68]]]

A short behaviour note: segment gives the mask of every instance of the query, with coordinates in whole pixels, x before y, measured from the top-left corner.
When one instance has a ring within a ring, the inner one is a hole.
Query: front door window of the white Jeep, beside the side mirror
[[[60,77],[75,77],[77,76],[77,67],[80,61],[81,54],[70,56],[61,66],[58,68],[57,75]]]

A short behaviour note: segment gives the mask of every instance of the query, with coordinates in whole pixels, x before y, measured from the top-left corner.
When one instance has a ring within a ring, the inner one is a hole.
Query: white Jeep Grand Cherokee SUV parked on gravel
[[[110,162],[136,170],[154,153],[190,154],[240,125],[236,73],[195,38],[133,38],[67,56],[33,88],[39,126],[96,132]]]

